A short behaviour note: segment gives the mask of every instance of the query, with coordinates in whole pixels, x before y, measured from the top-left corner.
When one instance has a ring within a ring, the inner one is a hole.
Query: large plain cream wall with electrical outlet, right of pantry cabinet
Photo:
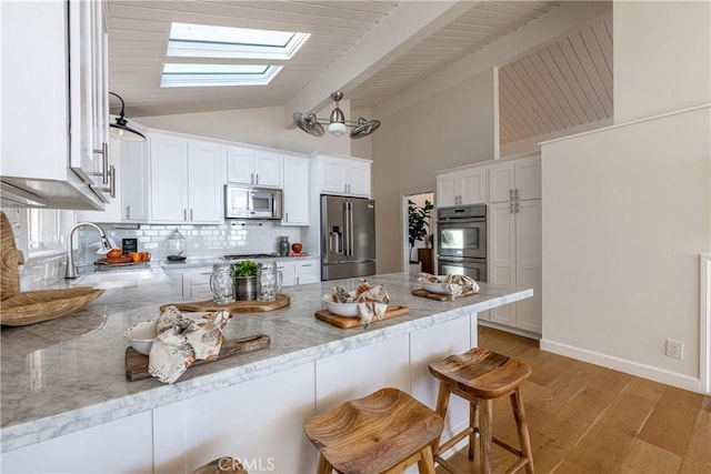
[[[542,349],[699,390],[710,143],[704,108],[542,145]]]

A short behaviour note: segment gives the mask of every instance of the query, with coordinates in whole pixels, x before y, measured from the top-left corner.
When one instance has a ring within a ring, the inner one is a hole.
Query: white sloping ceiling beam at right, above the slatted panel
[[[483,47],[444,70],[430,75],[407,91],[377,105],[379,119],[401,112],[422,100],[435,95],[469,78],[494,67],[502,67],[538,50],[567,31],[602,14],[609,13],[609,1],[571,1],[524,24],[518,30]]]

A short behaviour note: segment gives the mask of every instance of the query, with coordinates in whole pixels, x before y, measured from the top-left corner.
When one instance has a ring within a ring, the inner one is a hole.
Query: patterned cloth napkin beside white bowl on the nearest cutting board
[[[219,311],[190,319],[176,306],[168,306],[158,317],[148,373],[163,383],[173,383],[197,360],[214,359],[222,345],[222,329],[231,317],[229,311]]]

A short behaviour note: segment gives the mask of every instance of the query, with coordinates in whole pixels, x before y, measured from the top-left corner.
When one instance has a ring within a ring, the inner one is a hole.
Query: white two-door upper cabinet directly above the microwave
[[[282,186],[282,155],[242,147],[227,148],[227,181],[269,188]]]

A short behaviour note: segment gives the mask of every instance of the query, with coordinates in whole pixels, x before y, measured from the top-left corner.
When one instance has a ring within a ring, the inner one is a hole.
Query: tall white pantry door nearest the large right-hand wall
[[[530,286],[533,296],[515,303],[517,327],[540,333],[541,303],[541,200],[520,201],[515,213],[515,284]]]

